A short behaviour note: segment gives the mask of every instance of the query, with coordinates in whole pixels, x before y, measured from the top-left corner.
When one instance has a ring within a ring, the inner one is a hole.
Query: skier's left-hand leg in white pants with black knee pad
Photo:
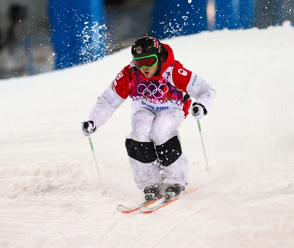
[[[139,189],[160,182],[160,166],[150,129],[155,114],[143,107],[135,107],[131,113],[131,133],[126,137],[125,147],[132,167],[135,183]]]

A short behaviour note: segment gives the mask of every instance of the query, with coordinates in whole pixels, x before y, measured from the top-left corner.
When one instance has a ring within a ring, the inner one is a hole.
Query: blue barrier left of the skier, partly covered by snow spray
[[[57,69],[103,57],[103,12],[103,0],[49,0]]]

